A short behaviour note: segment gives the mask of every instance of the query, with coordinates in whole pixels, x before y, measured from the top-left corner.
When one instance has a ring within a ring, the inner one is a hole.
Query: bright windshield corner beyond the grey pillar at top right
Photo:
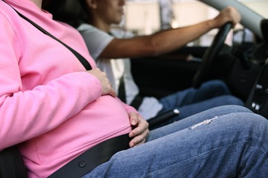
[[[268,0],[237,0],[240,3],[243,3],[247,8],[255,11],[257,14],[268,18]]]

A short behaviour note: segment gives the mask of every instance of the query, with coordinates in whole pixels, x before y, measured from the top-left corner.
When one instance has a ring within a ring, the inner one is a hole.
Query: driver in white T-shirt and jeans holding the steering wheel
[[[91,56],[98,67],[107,73],[118,97],[133,105],[145,119],[179,108],[181,114],[161,124],[166,125],[219,105],[243,105],[241,100],[231,95],[226,84],[219,80],[207,81],[198,89],[188,88],[161,99],[141,97],[131,75],[130,63],[130,58],[160,55],[179,49],[227,22],[231,22],[234,27],[241,20],[241,15],[235,8],[227,7],[215,18],[189,27],[159,31],[150,36],[133,36],[128,31],[112,29],[113,24],[122,21],[124,0],[80,0],[80,3],[85,7],[88,19],[78,30],[85,39]]]

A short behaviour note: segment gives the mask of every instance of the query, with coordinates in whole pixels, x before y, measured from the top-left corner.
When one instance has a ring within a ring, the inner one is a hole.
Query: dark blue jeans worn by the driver
[[[220,80],[206,81],[198,89],[188,88],[176,92],[175,94],[170,94],[159,101],[163,105],[163,109],[159,114],[175,108],[179,109],[180,114],[160,123],[152,129],[168,125],[212,107],[221,105],[244,105],[241,99],[231,95],[226,84]]]

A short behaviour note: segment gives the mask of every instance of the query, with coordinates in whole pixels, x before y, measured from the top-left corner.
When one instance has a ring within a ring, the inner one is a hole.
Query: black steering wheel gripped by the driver
[[[205,81],[205,79],[210,74],[212,63],[218,57],[230,29],[232,29],[232,23],[225,23],[225,25],[223,25],[221,29],[219,29],[219,32],[216,34],[212,45],[205,51],[202,57],[203,62],[201,66],[199,66],[199,69],[197,70],[197,73],[195,73],[192,80],[192,86],[194,88],[199,88],[202,82]]]

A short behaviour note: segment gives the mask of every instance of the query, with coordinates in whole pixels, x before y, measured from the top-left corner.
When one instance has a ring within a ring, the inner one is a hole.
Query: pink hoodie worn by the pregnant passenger
[[[96,67],[82,37],[29,0],[5,0]],[[0,1],[0,150],[19,142],[30,177],[47,177],[94,145],[129,133],[136,110],[78,59]]]

